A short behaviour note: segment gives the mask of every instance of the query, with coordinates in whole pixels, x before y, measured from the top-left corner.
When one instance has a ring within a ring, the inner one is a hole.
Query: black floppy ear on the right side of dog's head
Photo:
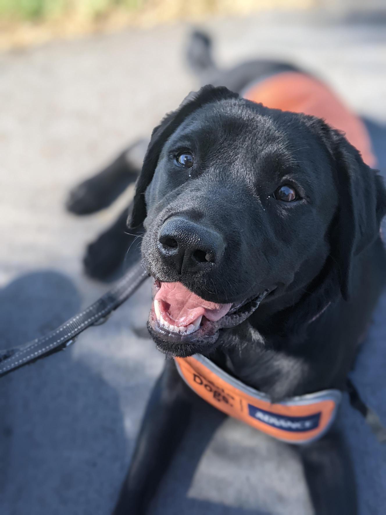
[[[339,205],[331,228],[331,255],[339,267],[340,288],[350,297],[353,259],[379,236],[386,214],[386,189],[376,170],[367,166],[344,136],[330,129]]]

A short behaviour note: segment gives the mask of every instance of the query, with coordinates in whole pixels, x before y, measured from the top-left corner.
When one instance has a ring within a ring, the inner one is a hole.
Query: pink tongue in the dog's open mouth
[[[191,293],[181,283],[161,283],[154,300],[159,301],[162,316],[165,318],[164,315],[168,315],[167,318],[178,326],[188,325],[201,315],[215,322],[229,312],[232,305],[208,302]]]

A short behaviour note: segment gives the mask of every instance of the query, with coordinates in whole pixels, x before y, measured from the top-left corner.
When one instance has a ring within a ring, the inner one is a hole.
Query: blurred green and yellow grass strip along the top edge
[[[326,0],[323,0],[326,1]],[[330,1],[330,0],[328,0]],[[0,0],[0,50],[58,38],[261,10],[306,10],[320,0]]]

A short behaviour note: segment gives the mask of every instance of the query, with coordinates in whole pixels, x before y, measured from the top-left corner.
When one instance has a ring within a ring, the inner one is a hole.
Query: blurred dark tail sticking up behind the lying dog
[[[201,30],[194,30],[186,47],[186,60],[190,70],[200,78],[217,70],[212,54],[212,38]]]

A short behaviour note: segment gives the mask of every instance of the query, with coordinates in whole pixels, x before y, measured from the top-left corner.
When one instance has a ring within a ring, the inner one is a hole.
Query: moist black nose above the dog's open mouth
[[[225,247],[218,232],[177,216],[161,227],[159,242],[161,254],[179,273],[218,263]]]

